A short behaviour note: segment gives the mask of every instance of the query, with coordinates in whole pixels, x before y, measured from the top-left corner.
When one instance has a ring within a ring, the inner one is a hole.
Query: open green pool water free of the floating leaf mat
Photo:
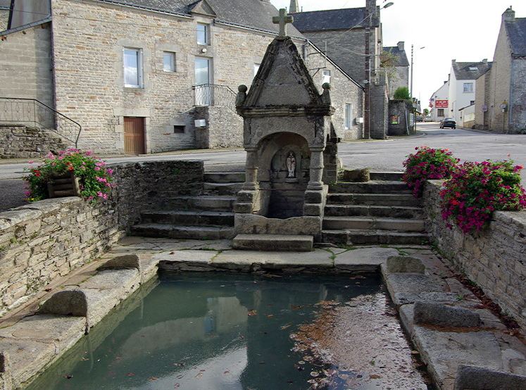
[[[292,352],[290,334],[313,322],[320,301],[382,291],[378,277],[349,275],[165,273],[155,284],[28,389],[306,390],[323,367]]]

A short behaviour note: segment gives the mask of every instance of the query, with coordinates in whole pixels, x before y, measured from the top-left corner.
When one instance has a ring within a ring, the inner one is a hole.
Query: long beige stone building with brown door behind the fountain
[[[234,91],[251,84],[276,36],[268,0],[13,4],[0,32],[0,96],[37,99],[80,123],[80,148],[242,146]],[[294,27],[289,34],[320,90],[318,69],[331,73],[338,137],[360,138],[363,87]]]

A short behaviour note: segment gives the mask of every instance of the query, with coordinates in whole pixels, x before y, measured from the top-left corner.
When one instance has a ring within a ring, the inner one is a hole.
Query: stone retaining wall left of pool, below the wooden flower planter
[[[129,232],[141,210],[202,189],[202,161],[112,168],[118,187],[108,201],[92,205],[73,196],[0,213],[0,316],[106,251]]]

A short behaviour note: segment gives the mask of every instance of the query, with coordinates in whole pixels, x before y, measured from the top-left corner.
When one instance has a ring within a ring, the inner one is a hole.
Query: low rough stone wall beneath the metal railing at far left
[[[0,158],[39,158],[75,146],[39,127],[0,125]]]

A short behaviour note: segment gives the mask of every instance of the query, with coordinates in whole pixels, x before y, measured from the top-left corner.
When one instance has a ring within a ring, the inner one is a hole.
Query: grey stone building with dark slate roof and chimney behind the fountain
[[[363,138],[387,137],[388,80],[380,67],[380,9],[376,0],[366,0],[361,8],[292,14],[294,27],[363,87]],[[332,77],[330,70],[321,70],[320,76]]]

